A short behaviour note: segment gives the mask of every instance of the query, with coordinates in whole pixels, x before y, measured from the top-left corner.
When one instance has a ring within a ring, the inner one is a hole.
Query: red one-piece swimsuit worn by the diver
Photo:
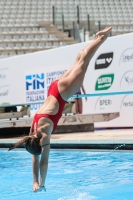
[[[34,118],[33,118],[33,122],[32,122],[32,126],[31,126],[31,133],[34,132],[34,124],[36,122],[36,132],[37,132],[37,128],[38,128],[38,121],[41,117],[46,117],[49,118],[53,121],[54,123],[54,128],[53,128],[53,132],[55,131],[58,121],[62,116],[62,112],[64,109],[64,106],[66,104],[66,101],[64,99],[62,99],[59,90],[58,90],[58,81],[59,80],[55,80],[51,83],[49,90],[48,90],[48,96],[52,95],[54,96],[57,101],[59,102],[59,110],[58,113],[55,115],[50,115],[50,114],[35,114]]]

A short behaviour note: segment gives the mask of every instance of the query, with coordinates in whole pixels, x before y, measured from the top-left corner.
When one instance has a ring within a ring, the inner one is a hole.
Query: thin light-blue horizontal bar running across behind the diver
[[[80,94],[73,95],[70,98],[84,98],[84,97],[96,97],[96,96],[115,96],[115,95],[124,95],[124,94],[133,94],[133,91],[125,91],[125,92],[108,92],[108,93],[96,93],[96,94]],[[71,102],[72,100],[68,100]],[[43,104],[44,102],[31,102],[31,103],[19,103],[19,104],[10,104],[10,105],[0,105],[0,108],[11,107],[11,106],[25,106],[25,105],[33,105],[33,104]]]

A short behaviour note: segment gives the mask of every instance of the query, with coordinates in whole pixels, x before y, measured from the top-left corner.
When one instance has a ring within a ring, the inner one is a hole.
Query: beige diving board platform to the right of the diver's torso
[[[107,122],[118,117],[119,112],[62,116],[59,120],[55,133],[94,131],[95,122]]]

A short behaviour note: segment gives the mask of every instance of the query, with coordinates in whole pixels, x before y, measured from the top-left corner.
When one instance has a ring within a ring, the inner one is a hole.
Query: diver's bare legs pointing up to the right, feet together
[[[67,100],[81,87],[89,62],[100,45],[107,39],[112,28],[106,28],[96,34],[95,40],[82,49],[74,65],[59,80],[58,88],[63,99]]]

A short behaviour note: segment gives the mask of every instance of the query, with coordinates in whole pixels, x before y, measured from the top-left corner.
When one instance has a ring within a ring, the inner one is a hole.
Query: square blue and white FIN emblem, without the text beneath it
[[[44,73],[26,76],[26,91],[44,89]]]

